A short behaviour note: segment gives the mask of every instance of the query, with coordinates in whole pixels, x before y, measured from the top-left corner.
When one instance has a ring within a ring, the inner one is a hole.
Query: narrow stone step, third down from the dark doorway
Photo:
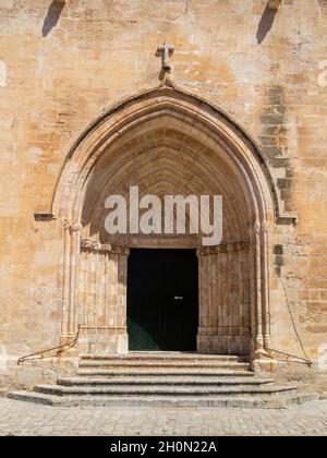
[[[228,371],[218,369],[144,369],[144,367],[134,367],[134,369],[80,369],[80,376],[86,377],[135,377],[135,376],[160,376],[160,377],[254,377],[254,373],[250,371]]]

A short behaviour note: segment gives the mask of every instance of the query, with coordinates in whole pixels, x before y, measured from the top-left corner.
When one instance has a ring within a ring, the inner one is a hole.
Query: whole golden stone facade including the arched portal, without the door
[[[2,385],[44,379],[64,354],[124,351],[128,249],[198,246],[106,238],[104,196],[131,176],[220,192],[223,246],[246,248],[199,250],[198,348],[305,352],[324,375],[327,3],[276,3],[0,0]],[[78,325],[76,350],[16,367]]]

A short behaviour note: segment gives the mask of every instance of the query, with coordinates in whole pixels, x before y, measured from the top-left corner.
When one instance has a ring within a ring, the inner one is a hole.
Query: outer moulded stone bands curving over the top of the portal
[[[172,125],[173,117],[184,123],[191,120],[185,135],[203,131],[206,138],[202,140],[223,146],[239,173],[243,179],[244,176],[249,178],[252,192],[266,195],[266,198],[258,200],[259,214],[272,212],[276,222],[294,222],[294,218],[280,215],[277,192],[266,160],[249,135],[223,111],[198,97],[169,87],[156,88],[113,107],[84,132],[72,147],[62,169],[52,202],[52,214],[57,217],[80,217],[86,182],[104,152],[121,141],[133,125],[166,114],[171,117]],[[255,200],[254,195],[249,197]],[[271,208],[269,205],[266,207],[269,201]]]

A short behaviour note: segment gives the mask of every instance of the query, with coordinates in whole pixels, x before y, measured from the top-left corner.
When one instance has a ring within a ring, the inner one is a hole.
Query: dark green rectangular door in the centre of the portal
[[[129,350],[196,351],[197,288],[195,250],[131,250]]]

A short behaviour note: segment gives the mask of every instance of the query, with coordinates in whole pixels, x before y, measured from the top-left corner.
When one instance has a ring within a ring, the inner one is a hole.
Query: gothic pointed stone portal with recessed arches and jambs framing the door
[[[223,243],[203,248],[192,234],[109,236],[105,200],[131,185],[159,197],[222,195]],[[196,248],[197,350],[253,354],[268,348],[277,194],[255,144],[205,100],[159,87],[109,110],[70,152],[52,214],[64,226],[63,341],[80,326],[81,351],[128,351],[129,250]]]

